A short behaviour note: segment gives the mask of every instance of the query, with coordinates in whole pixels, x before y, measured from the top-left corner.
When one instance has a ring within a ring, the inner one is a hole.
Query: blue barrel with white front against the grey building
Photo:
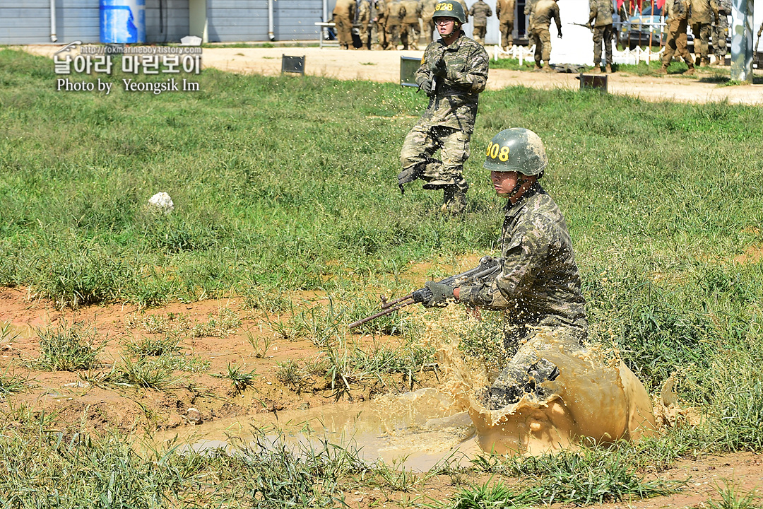
[[[146,42],[146,0],[100,0],[101,43]]]

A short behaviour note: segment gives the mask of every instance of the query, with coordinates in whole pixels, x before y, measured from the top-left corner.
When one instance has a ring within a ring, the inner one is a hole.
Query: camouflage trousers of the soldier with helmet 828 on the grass
[[[398,176],[401,185],[422,179],[425,189],[455,185],[461,191],[468,189],[463,176],[464,163],[469,158],[471,134],[454,127],[417,124],[405,137],[400,151],[403,172]],[[440,159],[434,158],[439,150]]]

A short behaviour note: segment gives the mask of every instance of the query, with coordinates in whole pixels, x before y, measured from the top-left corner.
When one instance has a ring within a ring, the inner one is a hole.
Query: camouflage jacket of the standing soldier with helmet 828
[[[432,69],[445,60],[446,76],[434,76],[435,93],[418,124],[454,127],[472,134],[477,117],[478,94],[488,82],[488,53],[485,48],[461,32],[461,37],[446,46],[434,40],[424,50],[416,82],[421,85],[432,78]]]

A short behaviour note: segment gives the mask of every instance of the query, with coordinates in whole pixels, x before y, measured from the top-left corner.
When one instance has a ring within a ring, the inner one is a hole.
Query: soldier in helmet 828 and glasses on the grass
[[[488,53],[465,36],[464,10],[456,0],[439,2],[433,14],[441,39],[424,50],[416,72],[429,96],[427,110],[405,137],[400,153],[403,185],[422,179],[424,189],[443,190],[443,212],[459,214],[466,206],[468,183],[463,165],[477,116],[478,95],[488,81]],[[439,159],[435,158],[439,150]]]

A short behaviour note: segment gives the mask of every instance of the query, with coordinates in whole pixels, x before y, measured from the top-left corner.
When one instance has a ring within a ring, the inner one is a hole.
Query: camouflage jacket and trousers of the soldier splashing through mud
[[[494,409],[526,392],[542,396],[539,383],[559,375],[552,362],[537,355],[539,327],[568,350],[575,350],[588,331],[580,272],[555,201],[536,182],[515,205],[507,201],[504,211],[501,273],[490,282],[461,287],[459,295],[464,304],[507,310],[512,333],[504,346],[518,350],[488,389],[488,406]]]

